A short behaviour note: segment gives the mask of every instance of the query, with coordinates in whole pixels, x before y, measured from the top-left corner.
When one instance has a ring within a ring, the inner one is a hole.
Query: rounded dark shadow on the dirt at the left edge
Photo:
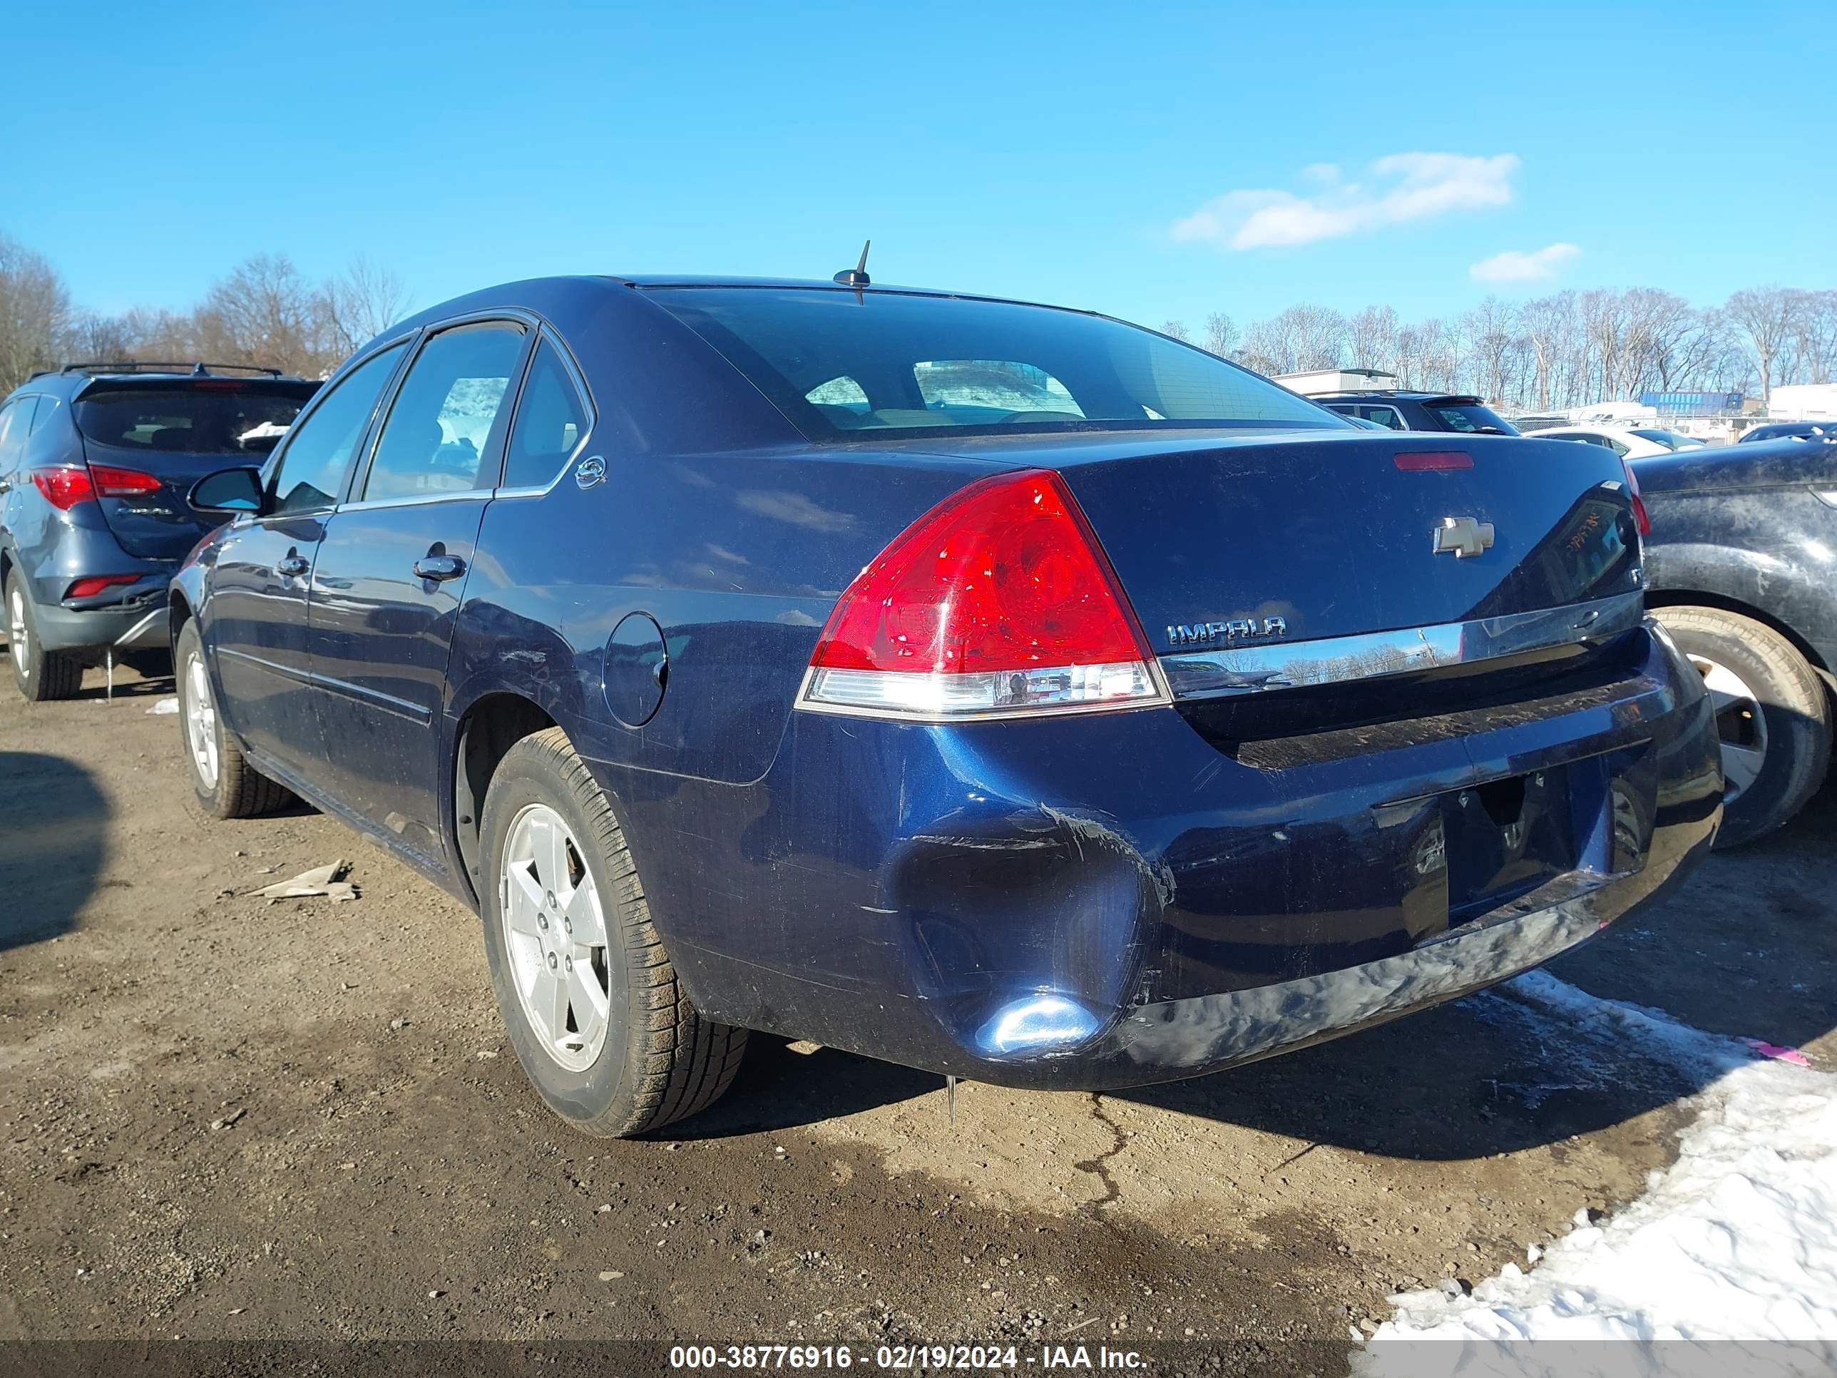
[[[73,761],[0,751],[0,952],[77,926],[101,880],[112,818]]]

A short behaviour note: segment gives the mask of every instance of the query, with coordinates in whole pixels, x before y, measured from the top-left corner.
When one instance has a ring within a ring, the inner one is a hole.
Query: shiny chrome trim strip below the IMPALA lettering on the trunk
[[[1528,650],[1606,641],[1639,627],[1644,593],[1615,593],[1567,608],[1539,608],[1394,632],[1330,636],[1317,641],[1216,647],[1161,656],[1176,702],[1225,698],[1315,683],[1350,683],[1389,674],[1471,665]]]

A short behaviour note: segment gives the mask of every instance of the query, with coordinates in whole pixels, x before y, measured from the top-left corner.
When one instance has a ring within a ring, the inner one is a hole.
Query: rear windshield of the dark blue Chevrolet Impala
[[[825,288],[650,294],[817,439],[1348,428],[1343,417],[1201,349],[1075,311]]]

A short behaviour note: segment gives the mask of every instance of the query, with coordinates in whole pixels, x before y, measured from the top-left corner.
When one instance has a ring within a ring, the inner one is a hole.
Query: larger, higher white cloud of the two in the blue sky
[[[1174,220],[1174,239],[1223,248],[1312,244],[1317,239],[1369,233],[1389,224],[1427,220],[1449,211],[1505,206],[1512,200],[1517,154],[1470,158],[1460,152],[1392,152],[1348,182],[1334,164],[1312,164],[1302,178],[1317,187],[1293,191],[1227,191],[1192,215]]]

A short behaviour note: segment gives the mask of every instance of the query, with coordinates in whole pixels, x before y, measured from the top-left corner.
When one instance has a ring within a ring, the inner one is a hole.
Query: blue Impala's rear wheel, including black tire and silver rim
[[[549,1108],[586,1134],[630,1137],[718,1101],[746,1029],[689,1003],[625,834],[560,728],[505,753],[479,843],[492,988]]]

